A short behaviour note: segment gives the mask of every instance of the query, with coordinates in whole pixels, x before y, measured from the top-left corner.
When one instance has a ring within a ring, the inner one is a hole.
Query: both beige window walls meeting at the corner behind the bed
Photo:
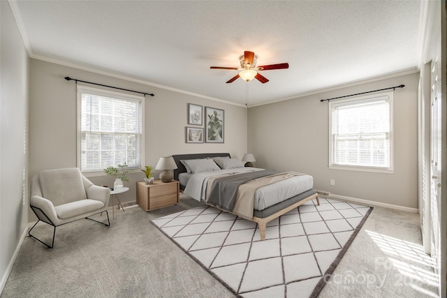
[[[418,207],[417,73],[251,107],[247,138],[244,107],[31,59],[29,177],[44,169],[76,166],[76,87],[73,81],[64,80],[65,76],[155,94],[145,100],[146,165],[156,165],[160,156],[183,153],[224,151],[242,158],[248,142],[257,166],[312,174],[318,190]],[[394,96],[394,174],[329,170],[328,103],[320,99],[399,84],[406,87],[397,89]],[[225,110],[224,144],[185,144],[188,103]],[[135,181],[143,177],[142,172],[129,174],[131,190],[120,196],[122,202],[135,201]],[[107,176],[90,179],[104,185],[112,185],[113,181]],[[335,179],[335,186],[330,186],[330,179]]]

